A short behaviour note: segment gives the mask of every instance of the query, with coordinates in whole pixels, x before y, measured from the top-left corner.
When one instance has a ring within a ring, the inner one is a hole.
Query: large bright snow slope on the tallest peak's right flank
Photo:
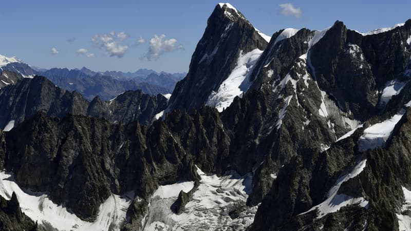
[[[211,92],[206,104],[221,112],[230,106],[236,96],[242,97],[242,94],[247,92],[252,84],[249,81],[249,75],[262,53],[263,51],[259,49],[254,49],[246,54],[241,51],[237,66],[228,78],[221,83],[218,90]]]

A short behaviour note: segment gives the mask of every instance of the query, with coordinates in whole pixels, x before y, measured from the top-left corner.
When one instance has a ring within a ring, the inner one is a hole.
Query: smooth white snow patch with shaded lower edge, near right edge
[[[363,135],[358,140],[359,151],[383,147],[385,142],[391,136],[391,133],[393,133],[395,125],[397,125],[404,114],[405,110],[402,109],[400,113],[394,115],[390,119],[366,128]]]

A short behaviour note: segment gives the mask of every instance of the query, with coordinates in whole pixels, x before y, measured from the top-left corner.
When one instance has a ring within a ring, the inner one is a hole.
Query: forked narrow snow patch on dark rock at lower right
[[[357,177],[365,168],[367,160],[360,161],[352,170],[351,172],[345,174],[344,176],[340,177],[337,182],[335,182],[334,186],[328,191],[327,199],[319,205],[312,207],[310,210],[302,213],[306,214],[309,211],[313,211],[318,209],[319,213],[317,214],[317,218],[322,218],[327,214],[334,213],[340,208],[351,205],[351,204],[359,204],[361,207],[368,207],[368,201],[365,200],[363,197],[353,198],[351,196],[345,194],[337,194],[340,186],[348,181],[351,178]],[[300,214],[300,215],[302,215]]]

